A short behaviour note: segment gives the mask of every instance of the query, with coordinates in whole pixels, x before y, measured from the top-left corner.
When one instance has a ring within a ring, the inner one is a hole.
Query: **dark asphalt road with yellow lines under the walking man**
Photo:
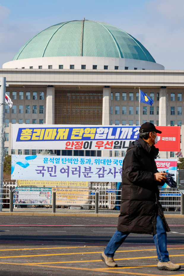
[[[155,267],[151,235],[130,234],[107,269],[100,254],[116,231],[117,218],[1,216],[0,276],[18,275],[184,275],[184,219],[167,219],[171,261],[178,272]]]

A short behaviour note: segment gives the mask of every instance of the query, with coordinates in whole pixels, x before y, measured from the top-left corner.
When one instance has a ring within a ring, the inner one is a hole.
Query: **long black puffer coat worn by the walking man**
[[[158,149],[139,138],[127,149],[123,161],[121,206],[118,231],[139,234],[156,234],[156,215],[166,223],[159,200],[154,173],[158,172],[155,158]]]

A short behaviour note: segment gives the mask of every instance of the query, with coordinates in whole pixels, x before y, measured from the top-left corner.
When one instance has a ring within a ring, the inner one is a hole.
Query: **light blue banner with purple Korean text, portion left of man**
[[[121,182],[123,158],[12,155],[11,179]]]

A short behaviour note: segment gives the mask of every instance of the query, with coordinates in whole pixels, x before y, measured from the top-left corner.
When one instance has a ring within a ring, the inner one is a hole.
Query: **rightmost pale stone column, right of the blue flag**
[[[160,99],[159,99],[159,126],[167,126],[167,88],[161,86],[160,88]],[[159,135],[159,134],[158,134]],[[160,152],[161,158],[168,158],[168,153],[165,151]]]

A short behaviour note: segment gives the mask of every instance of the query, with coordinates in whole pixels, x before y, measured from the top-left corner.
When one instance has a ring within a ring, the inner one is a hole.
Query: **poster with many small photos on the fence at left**
[[[52,188],[21,188],[14,191],[13,204],[52,204]]]

